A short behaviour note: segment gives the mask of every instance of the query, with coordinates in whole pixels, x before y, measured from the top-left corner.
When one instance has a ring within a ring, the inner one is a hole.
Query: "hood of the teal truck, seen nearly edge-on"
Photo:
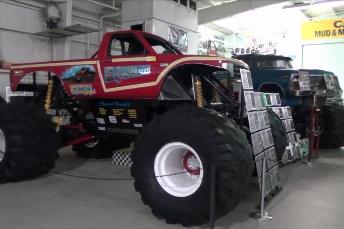
[[[278,75],[291,75],[294,73],[298,73],[299,71],[302,72],[309,72],[310,75],[323,75],[324,73],[332,74],[333,72],[327,72],[320,69],[297,69],[297,68],[255,68],[252,69],[251,72],[259,72],[259,74],[269,75],[269,76],[276,76]]]

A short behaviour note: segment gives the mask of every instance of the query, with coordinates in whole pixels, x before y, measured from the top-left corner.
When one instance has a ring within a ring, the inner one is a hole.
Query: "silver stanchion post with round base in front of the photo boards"
[[[251,217],[267,222],[272,220],[272,216],[268,212],[264,212],[264,199],[265,199],[265,170],[266,170],[266,156],[263,156],[261,168],[261,185],[260,185],[260,211],[255,211],[251,213]]]

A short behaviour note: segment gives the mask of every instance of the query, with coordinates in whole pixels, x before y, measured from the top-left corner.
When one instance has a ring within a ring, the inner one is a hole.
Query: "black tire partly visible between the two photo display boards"
[[[268,112],[270,128],[272,133],[273,144],[275,145],[275,152],[277,160],[282,160],[284,151],[287,148],[287,133],[286,127],[278,115],[271,109],[266,109]]]

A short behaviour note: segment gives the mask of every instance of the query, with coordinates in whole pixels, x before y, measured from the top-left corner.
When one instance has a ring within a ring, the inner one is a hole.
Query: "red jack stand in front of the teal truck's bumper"
[[[311,107],[311,110],[309,112],[309,126],[307,128],[307,138],[309,140],[309,151],[308,151],[308,159],[306,161],[303,161],[303,164],[306,165],[314,165],[313,162],[311,162],[311,159],[319,158],[319,139],[320,139],[320,133],[319,133],[319,112],[320,109],[318,109],[317,103],[316,103],[316,93],[313,96],[313,105]],[[315,144],[315,156],[313,156],[313,150],[314,150],[314,140],[316,137],[316,144]]]

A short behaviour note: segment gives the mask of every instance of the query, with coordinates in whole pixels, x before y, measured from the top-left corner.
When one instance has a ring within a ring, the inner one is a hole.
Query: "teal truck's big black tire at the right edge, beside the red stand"
[[[344,146],[344,106],[326,101],[321,109],[324,130],[320,134],[320,149],[335,149]]]

